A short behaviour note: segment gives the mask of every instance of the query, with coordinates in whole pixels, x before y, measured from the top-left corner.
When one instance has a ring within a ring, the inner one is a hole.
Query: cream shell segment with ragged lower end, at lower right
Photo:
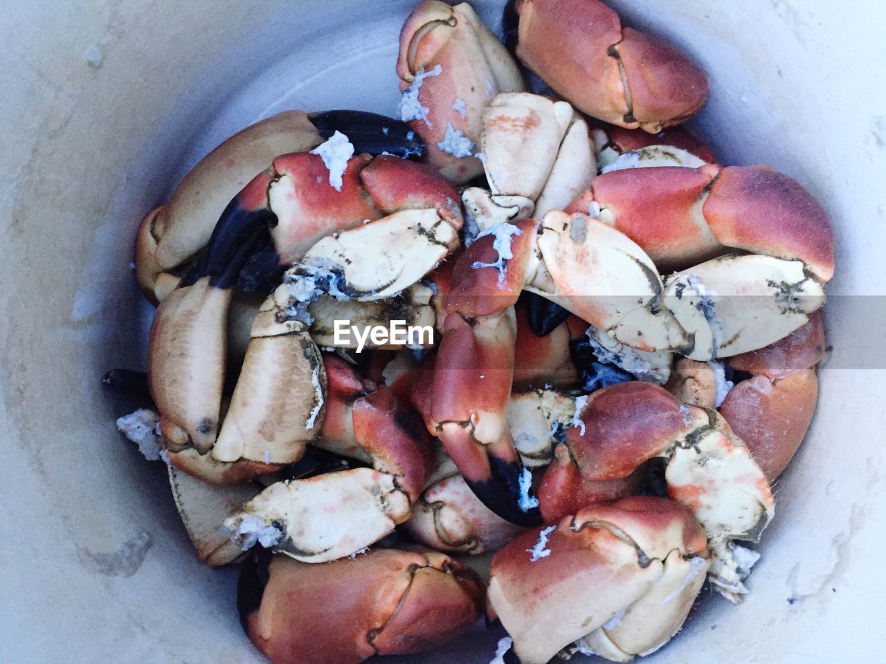
[[[694,430],[672,450],[664,472],[668,493],[702,524],[713,554],[711,583],[738,603],[748,590],[733,540],[758,542],[775,513],[772,490],[748,446],[719,413],[684,407]]]

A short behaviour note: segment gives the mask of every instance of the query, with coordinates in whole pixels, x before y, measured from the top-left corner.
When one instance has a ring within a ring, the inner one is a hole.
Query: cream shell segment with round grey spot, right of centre
[[[663,286],[637,243],[586,214],[548,212],[538,247],[543,259],[525,290],[556,302],[618,343],[643,351],[680,347],[679,326],[655,309]]]

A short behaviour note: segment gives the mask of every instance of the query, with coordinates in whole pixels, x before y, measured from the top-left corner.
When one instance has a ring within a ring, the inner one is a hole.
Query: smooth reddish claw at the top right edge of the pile
[[[649,132],[704,104],[703,71],[597,0],[517,0],[517,58],[581,111]]]

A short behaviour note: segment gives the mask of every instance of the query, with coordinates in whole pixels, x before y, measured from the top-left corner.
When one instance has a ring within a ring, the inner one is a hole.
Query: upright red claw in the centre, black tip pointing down
[[[521,220],[509,227],[511,259],[497,247],[504,235],[480,237],[462,253],[453,268],[432,387],[419,385],[413,398],[471,490],[518,525],[539,519],[507,424],[516,336],[511,307],[523,288],[536,226]]]

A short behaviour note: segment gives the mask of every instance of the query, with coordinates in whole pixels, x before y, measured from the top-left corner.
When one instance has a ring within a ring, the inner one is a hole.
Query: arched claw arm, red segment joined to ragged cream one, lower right
[[[559,488],[560,493],[540,497],[556,501],[556,508],[542,505],[542,513],[578,509],[583,503],[570,506],[568,491],[579,483],[593,488],[596,482],[621,480],[662,457],[668,495],[687,506],[707,533],[712,583],[739,601],[747,589],[732,540],[758,541],[774,512],[766,475],[747,446],[716,411],[681,405],[648,382],[610,385],[579,406],[566,431],[565,450],[555,454],[542,481]]]

